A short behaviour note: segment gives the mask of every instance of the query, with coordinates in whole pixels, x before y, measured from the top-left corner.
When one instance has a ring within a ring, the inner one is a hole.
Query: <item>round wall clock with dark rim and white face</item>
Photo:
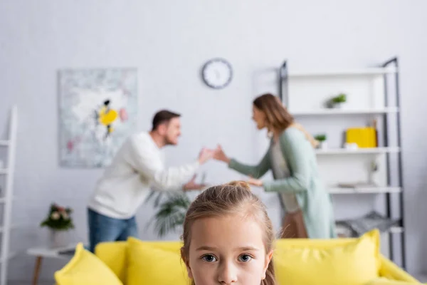
[[[223,58],[214,58],[205,63],[202,70],[203,80],[211,88],[221,89],[231,82],[233,69]]]

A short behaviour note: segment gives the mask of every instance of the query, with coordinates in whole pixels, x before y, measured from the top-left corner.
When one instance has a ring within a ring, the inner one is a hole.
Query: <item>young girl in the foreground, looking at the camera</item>
[[[193,285],[275,285],[273,226],[245,182],[210,187],[184,219],[181,257]]]

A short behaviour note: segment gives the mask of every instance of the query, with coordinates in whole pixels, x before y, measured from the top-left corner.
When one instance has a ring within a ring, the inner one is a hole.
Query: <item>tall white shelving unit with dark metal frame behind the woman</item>
[[[364,199],[369,194],[372,197],[380,195],[385,198],[381,200],[384,202],[384,215],[390,219],[399,219],[399,225],[389,229],[386,234],[389,237],[390,259],[396,262],[396,248],[400,247],[400,265],[405,269],[398,58],[391,58],[371,68],[323,71],[294,71],[288,68],[288,62],[285,61],[280,66],[279,78],[280,100],[296,120],[310,133],[328,133],[325,129],[329,130],[328,138],[332,137],[332,141],[337,142],[330,148],[315,151],[329,192],[334,197],[343,197],[340,202],[350,195],[364,194]],[[325,100],[339,93],[347,94],[344,107],[325,108]],[[340,132],[355,125],[366,125],[367,119],[377,120],[379,146],[356,150],[343,148]],[[328,144],[330,142],[328,139]],[[381,169],[375,186],[337,187],[337,182],[366,180],[366,172],[369,172],[367,163],[371,161],[378,162]],[[391,175],[391,172],[394,174]],[[335,185],[333,182],[336,182]],[[354,202],[357,197],[348,200]],[[355,204],[354,207],[362,206],[364,204]],[[397,235],[400,236],[400,243],[397,242],[399,237],[395,239]]]

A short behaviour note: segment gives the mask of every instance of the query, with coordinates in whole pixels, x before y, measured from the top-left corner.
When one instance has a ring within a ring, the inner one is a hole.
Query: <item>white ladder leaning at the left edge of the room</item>
[[[9,259],[13,254],[9,251],[11,233],[11,214],[14,190],[14,170],[16,157],[16,132],[18,128],[18,108],[14,105],[9,117],[9,128],[6,140],[0,140],[0,147],[7,147],[6,163],[0,165],[0,176],[5,176],[6,189],[2,191],[0,204],[3,204],[3,225],[0,227],[1,256],[0,256],[0,285],[6,285]]]

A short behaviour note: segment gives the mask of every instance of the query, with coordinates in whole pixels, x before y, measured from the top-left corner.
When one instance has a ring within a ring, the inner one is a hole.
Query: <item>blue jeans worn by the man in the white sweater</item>
[[[135,217],[114,219],[88,209],[89,250],[95,252],[100,242],[125,241],[127,237],[137,237],[138,229]]]

